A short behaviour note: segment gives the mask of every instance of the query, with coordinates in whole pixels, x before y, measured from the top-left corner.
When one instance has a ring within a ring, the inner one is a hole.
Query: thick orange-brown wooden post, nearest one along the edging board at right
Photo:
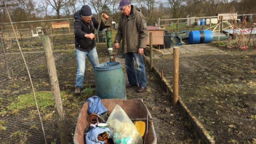
[[[173,47],[173,98],[172,105],[178,105],[179,94],[179,47]]]

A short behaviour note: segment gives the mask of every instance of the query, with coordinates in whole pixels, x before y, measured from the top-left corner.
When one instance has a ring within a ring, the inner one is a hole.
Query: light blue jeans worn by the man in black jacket
[[[84,74],[85,74],[85,63],[86,63],[86,56],[88,57],[89,61],[92,64],[93,70],[95,71],[96,65],[99,64],[98,53],[96,47],[94,47],[91,51],[80,51],[76,49],[76,60],[77,60],[77,72],[76,72],[76,84],[75,87],[83,87],[84,83]]]

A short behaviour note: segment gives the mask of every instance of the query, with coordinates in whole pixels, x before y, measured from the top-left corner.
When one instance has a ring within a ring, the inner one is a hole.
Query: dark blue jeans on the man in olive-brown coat
[[[134,67],[134,59],[137,63],[137,73]],[[135,52],[125,53],[125,67],[130,84],[138,84],[140,87],[147,86],[146,70],[143,61],[143,55]]]

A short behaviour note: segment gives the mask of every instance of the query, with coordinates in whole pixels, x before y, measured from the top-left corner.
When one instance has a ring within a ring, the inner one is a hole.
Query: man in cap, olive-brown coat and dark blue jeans
[[[137,11],[129,0],[121,0],[118,9],[122,15],[117,28],[115,47],[119,49],[119,43],[123,39],[125,67],[129,81],[126,87],[138,86],[139,84],[137,92],[143,92],[147,89],[147,76],[143,62],[148,38],[147,22],[143,14]],[[134,60],[138,66],[137,71],[134,67]]]

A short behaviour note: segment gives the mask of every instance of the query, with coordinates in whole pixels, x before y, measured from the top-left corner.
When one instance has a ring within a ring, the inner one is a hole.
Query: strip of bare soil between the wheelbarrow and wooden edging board
[[[121,62],[125,81],[128,84],[122,55],[118,54],[116,61]],[[161,79],[158,79],[149,67],[146,71],[147,90],[137,93],[137,87],[126,88],[126,97],[127,99],[143,99],[143,103],[153,117],[157,143],[201,143],[188,119],[180,113],[178,108],[172,107],[171,95],[163,92]]]

